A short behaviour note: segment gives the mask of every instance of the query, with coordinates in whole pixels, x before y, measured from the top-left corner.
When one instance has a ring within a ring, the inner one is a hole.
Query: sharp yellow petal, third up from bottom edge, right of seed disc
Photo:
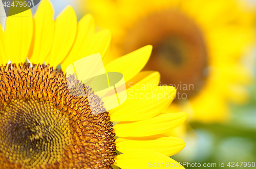
[[[120,122],[114,132],[119,137],[143,137],[164,133],[181,125],[187,118],[187,113],[164,113],[156,117],[134,123]]]

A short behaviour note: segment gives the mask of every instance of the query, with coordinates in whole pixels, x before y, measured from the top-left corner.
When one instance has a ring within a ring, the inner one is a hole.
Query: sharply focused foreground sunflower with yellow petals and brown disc
[[[187,114],[164,112],[176,89],[158,86],[157,71],[141,71],[151,45],[106,64],[110,31],[96,33],[90,14],[77,24],[70,6],[53,20],[48,0],[34,17],[30,10],[8,17],[0,33],[1,168],[183,168],[168,156],[184,140],[162,133]],[[127,85],[127,100],[109,112],[88,86],[62,71],[97,53],[106,72],[121,73]]]

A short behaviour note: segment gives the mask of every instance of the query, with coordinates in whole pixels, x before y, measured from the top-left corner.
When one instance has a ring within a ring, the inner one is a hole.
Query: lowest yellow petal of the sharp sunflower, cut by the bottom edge
[[[152,151],[140,151],[139,153],[125,153],[115,157],[115,165],[122,169],[144,169],[152,167],[171,167],[172,164],[175,168],[184,168],[177,161],[169,158],[161,153]],[[169,166],[170,165],[170,166]]]

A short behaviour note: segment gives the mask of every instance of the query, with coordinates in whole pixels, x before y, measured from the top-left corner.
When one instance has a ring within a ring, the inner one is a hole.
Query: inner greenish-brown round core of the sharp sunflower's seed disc
[[[71,144],[66,115],[49,101],[12,100],[0,114],[0,151],[10,162],[26,167],[53,164]]]

